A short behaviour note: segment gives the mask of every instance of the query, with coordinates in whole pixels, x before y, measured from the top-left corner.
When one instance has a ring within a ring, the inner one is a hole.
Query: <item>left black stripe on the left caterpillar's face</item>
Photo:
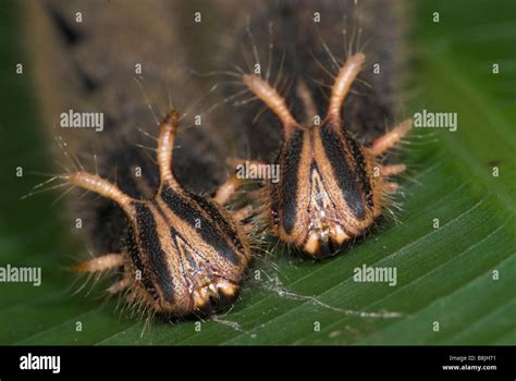
[[[167,302],[174,302],[174,282],[170,276],[165,253],[161,248],[152,212],[143,204],[135,202],[138,241],[148,255],[149,265],[156,274],[156,282]]]

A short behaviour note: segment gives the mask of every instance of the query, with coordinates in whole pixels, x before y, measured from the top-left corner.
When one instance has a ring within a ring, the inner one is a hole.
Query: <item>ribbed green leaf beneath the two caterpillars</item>
[[[322,262],[280,250],[257,259],[234,308],[201,322],[200,331],[195,321],[146,325],[115,310],[116,300],[103,304],[101,286],[72,294],[75,278],[62,268],[84,247],[67,237],[59,204],[51,207],[57,196],[20,200],[38,182],[27,171],[52,160],[32,96],[30,62],[27,75],[14,74],[24,56],[15,17],[5,15],[15,8],[2,8],[0,96],[8,107],[0,119],[0,266],[41,267],[42,284],[0,283],[1,344],[516,343],[512,1],[422,1],[414,10],[417,62],[408,74],[418,95],[408,110],[456,112],[458,130],[415,130],[403,150],[410,171],[401,182],[398,222],[380,221],[372,234]],[[23,177],[15,176],[19,165]],[[355,282],[354,269],[363,265],[395,268],[396,285]]]

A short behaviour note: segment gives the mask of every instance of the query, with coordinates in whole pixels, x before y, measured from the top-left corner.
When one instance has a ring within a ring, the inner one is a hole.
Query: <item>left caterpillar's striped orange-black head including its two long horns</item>
[[[175,111],[161,123],[157,149],[160,185],[151,199],[132,198],[116,185],[86,172],[65,176],[70,183],[115,201],[125,212],[128,233],[118,265],[124,268],[122,286],[131,290],[131,300],[176,317],[209,314],[233,300],[250,259],[246,237],[232,214],[175,180],[172,150],[177,123]],[[95,265],[101,259],[79,263],[78,270],[99,271]]]

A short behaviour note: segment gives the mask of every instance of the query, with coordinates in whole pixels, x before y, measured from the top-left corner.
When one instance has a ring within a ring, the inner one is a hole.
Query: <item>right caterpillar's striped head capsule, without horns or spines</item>
[[[296,130],[271,184],[272,228],[284,242],[322,258],[371,225],[380,209],[374,159],[339,125]]]

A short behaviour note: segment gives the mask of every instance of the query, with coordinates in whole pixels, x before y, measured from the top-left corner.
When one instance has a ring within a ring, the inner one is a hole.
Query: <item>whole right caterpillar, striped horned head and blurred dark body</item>
[[[239,156],[279,165],[262,195],[270,231],[316,258],[366,233],[405,170],[384,160],[411,127],[393,127],[396,16],[393,1],[280,1],[239,17],[247,49],[230,53],[239,82],[226,87],[251,94],[233,112]]]

